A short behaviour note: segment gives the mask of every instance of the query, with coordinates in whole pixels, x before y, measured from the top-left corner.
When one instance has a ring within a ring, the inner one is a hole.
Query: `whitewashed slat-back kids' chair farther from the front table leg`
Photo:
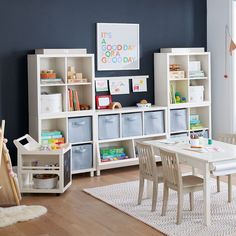
[[[158,184],[163,182],[162,166],[156,165],[156,160],[152,146],[136,142],[136,148],[139,158],[139,194],[138,194],[138,205],[141,204],[144,180],[153,181],[153,192],[152,192],[152,211],[156,210]]]

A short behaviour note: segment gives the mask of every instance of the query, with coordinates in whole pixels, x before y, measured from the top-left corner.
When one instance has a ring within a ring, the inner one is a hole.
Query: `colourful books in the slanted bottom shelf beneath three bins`
[[[100,148],[101,162],[117,161],[128,159],[124,147],[106,147]]]

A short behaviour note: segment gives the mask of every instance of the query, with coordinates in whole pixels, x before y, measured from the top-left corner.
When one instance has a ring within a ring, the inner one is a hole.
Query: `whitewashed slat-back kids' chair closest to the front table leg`
[[[164,193],[162,216],[166,215],[169,188],[177,191],[178,208],[177,208],[177,224],[182,222],[183,196],[189,193],[190,210],[193,210],[194,196],[193,192],[203,190],[203,179],[194,175],[182,176],[178,156],[173,152],[167,152],[160,149],[160,156],[163,167]]]

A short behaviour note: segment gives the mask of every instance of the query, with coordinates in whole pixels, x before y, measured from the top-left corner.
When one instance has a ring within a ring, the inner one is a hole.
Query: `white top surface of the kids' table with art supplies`
[[[151,144],[157,148],[163,148],[168,151],[176,152],[184,156],[194,157],[200,161],[205,161],[208,163],[218,162],[218,161],[227,161],[227,160],[236,160],[236,145],[223,143],[219,141],[212,141],[212,145],[206,145],[205,147],[215,147],[218,151],[208,151],[200,152],[200,149],[191,149],[189,150],[190,144],[186,143],[175,143],[175,144],[166,144],[163,143],[164,140],[152,140],[145,141],[147,144]]]

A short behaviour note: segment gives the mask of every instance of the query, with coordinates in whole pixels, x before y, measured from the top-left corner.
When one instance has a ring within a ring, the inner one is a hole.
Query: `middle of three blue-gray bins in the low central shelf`
[[[142,135],[142,113],[122,114],[122,137]]]

